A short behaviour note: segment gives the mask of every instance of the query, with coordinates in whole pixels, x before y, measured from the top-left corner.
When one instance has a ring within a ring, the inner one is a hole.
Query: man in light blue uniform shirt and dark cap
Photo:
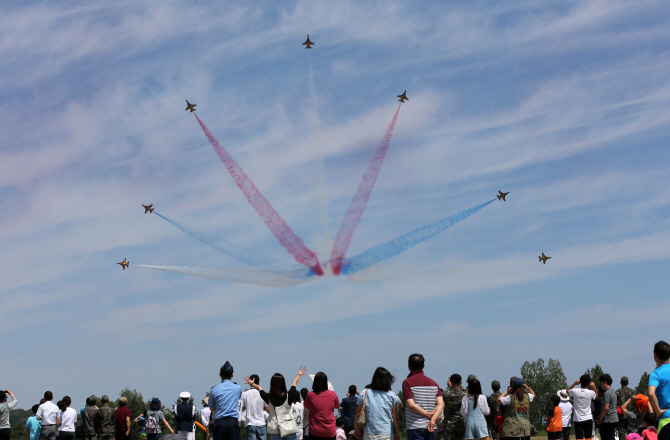
[[[219,371],[221,383],[212,387],[209,393],[209,409],[212,411],[210,422],[213,440],[240,440],[240,423],[238,402],[242,396],[242,388],[233,383],[233,366],[230,362]]]

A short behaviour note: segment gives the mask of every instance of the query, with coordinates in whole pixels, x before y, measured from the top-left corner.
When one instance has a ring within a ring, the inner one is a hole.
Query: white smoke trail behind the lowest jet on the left
[[[313,276],[306,276],[304,278],[299,277],[299,272],[306,273],[306,269],[286,271],[286,276],[283,276],[259,269],[224,269],[216,267],[162,266],[153,264],[132,264],[131,266],[180,273],[194,277],[210,278],[213,280],[255,284],[257,286],[265,287],[294,287],[313,278]],[[311,271],[309,272],[311,273]]]

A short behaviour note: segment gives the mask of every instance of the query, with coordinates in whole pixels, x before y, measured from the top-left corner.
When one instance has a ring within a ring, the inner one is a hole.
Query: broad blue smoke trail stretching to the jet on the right
[[[399,253],[404,252],[407,249],[436,236],[445,229],[454,226],[456,223],[465,220],[489,203],[493,203],[495,200],[496,199],[489,200],[488,202],[477,205],[474,208],[466,209],[465,211],[461,211],[458,214],[454,214],[442,220],[438,220],[435,223],[426,225],[423,228],[419,228],[410,232],[409,234],[398,237],[395,240],[391,240],[384,244],[380,244],[379,246],[370,248],[367,251],[355,255],[351,258],[345,258],[342,260],[342,273],[345,275],[353,274],[360,272],[363,269],[367,269],[368,267],[372,266],[373,264],[377,264],[380,261],[388,260],[389,258],[394,257]]]

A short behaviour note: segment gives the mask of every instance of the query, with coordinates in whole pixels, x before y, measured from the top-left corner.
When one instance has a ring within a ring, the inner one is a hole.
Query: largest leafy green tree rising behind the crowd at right
[[[542,358],[535,362],[524,362],[521,366],[521,378],[535,391],[535,399],[530,405],[528,416],[539,431],[544,429],[542,421],[551,409],[551,396],[568,387],[567,379],[557,359],[549,359],[545,366]]]

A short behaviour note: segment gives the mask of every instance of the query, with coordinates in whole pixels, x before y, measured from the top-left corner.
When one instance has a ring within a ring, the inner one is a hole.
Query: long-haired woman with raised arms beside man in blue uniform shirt
[[[306,371],[306,368],[300,367],[300,370],[298,371],[298,374],[296,374],[295,379],[293,379],[293,383],[291,384],[291,388],[289,390],[286,390],[286,381],[284,380],[284,376],[282,376],[280,373],[273,374],[272,379],[270,379],[269,393],[265,392],[259,384],[254,382],[253,379],[249,377],[244,378],[244,381],[249,386],[258,390],[261,395],[261,399],[263,399],[263,401],[270,407],[270,416],[268,417],[267,430],[268,433],[272,435],[272,440],[297,440],[298,438],[296,433],[281,437],[279,431],[279,422],[283,419],[285,420],[286,418],[293,417],[293,410],[291,405],[293,404],[296,397],[298,396],[299,398],[300,396],[300,393],[298,390],[296,390],[295,387],[298,385],[298,381]]]

